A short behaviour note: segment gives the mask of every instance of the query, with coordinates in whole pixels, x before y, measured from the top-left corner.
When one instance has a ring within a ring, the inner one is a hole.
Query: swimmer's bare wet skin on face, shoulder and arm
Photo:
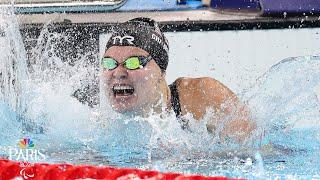
[[[129,57],[148,55],[146,51],[132,46],[113,46],[105,52],[104,57],[111,57],[119,63],[117,68],[104,70],[102,74],[106,96],[115,111],[146,117],[151,110],[161,113],[163,106],[171,109],[171,95],[165,73],[154,60],[137,70],[128,70],[122,66]],[[195,119],[200,120],[208,109],[216,112],[209,118],[209,132],[214,133],[217,126],[223,125],[221,137],[242,141],[255,129],[246,107],[219,81],[209,77],[178,78],[176,84],[182,115],[191,113]],[[134,92],[126,95],[115,94],[115,86],[130,86],[134,88]],[[225,122],[226,118],[229,121]]]

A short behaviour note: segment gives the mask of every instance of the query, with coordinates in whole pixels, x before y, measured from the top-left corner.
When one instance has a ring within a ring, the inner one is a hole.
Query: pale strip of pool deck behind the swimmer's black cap
[[[115,23],[127,21],[133,17],[149,17],[158,22],[169,21],[235,21],[263,19],[257,13],[222,13],[210,10],[148,11],[148,12],[109,12],[109,13],[53,13],[20,14],[22,23],[39,24],[69,21],[72,23]]]

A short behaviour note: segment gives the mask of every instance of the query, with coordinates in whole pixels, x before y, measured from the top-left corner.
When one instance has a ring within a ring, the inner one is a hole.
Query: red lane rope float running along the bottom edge
[[[160,173],[131,168],[96,167],[88,165],[15,162],[0,159],[0,179],[108,179],[108,180],[227,180],[225,177],[204,177],[178,173]]]

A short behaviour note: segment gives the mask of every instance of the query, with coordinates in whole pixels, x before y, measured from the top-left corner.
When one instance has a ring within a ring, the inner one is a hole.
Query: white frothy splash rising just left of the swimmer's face
[[[75,52],[63,57],[63,47],[70,43],[67,34],[42,29],[37,45],[31,49],[29,88],[32,98],[26,116],[45,127],[45,140],[55,141],[61,148],[76,148],[91,141],[94,131],[94,109],[81,103],[74,95],[77,90],[94,81],[95,66],[87,61],[91,54]],[[36,88],[34,88],[36,87]],[[55,151],[50,144],[42,145]]]

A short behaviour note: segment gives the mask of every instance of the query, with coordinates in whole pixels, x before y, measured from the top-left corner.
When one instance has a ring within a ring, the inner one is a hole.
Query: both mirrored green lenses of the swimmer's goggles
[[[101,65],[103,68],[112,70],[118,67],[118,62],[112,58],[102,58]],[[139,57],[130,57],[124,63],[123,66],[129,70],[141,68]]]

